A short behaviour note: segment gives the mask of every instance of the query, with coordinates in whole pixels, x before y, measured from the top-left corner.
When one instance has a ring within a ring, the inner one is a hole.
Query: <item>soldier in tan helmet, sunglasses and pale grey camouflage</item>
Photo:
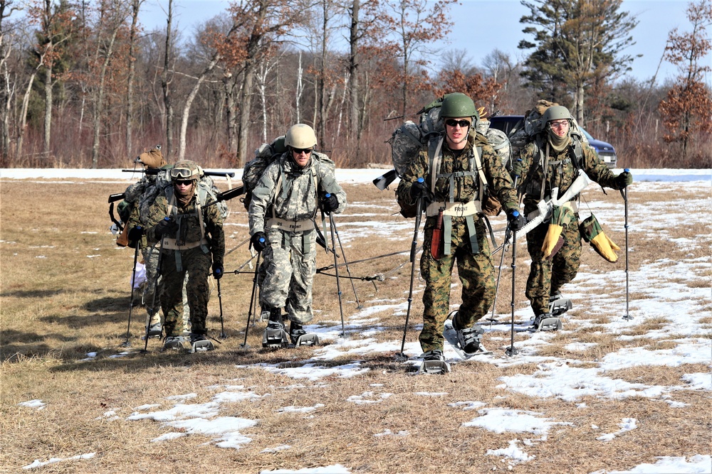
[[[317,142],[312,127],[291,126],[284,144],[287,151],[265,169],[252,192],[249,223],[253,247],[264,259],[260,303],[269,311],[268,329],[285,332],[281,314],[285,308],[291,321],[289,337],[296,343],[305,334],[303,325],[314,317],[314,218],[319,210],[342,212],[346,193],[336,182],[333,165],[314,151]],[[274,347],[287,341],[273,345],[263,340],[266,344]]]

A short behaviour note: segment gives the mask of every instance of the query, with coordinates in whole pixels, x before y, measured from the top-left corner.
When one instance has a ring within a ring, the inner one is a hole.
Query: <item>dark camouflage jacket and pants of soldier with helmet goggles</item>
[[[187,206],[182,207],[174,200],[174,212],[169,214],[169,200],[167,195],[172,195],[172,186],[167,188],[167,193],[158,195],[155,203],[147,212],[147,239],[149,243],[157,242],[152,227],[168,215],[172,215],[179,223],[179,230],[173,237],[185,247],[192,246],[201,240],[201,230],[197,213],[197,183],[194,185],[196,193]],[[208,204],[213,199],[208,197]],[[206,334],[205,320],[208,316],[209,286],[208,276],[211,273],[211,262],[222,265],[225,254],[225,234],[223,220],[216,205],[201,208],[206,242],[197,247],[179,250],[164,247],[160,270],[163,280],[161,294],[161,308],[165,318],[165,335],[179,336],[183,332],[183,299],[182,291],[187,275],[186,294],[190,307],[191,332]],[[160,245],[160,244],[158,244]]]

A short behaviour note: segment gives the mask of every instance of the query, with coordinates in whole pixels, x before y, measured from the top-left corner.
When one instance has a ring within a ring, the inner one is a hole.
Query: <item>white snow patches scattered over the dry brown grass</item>
[[[379,170],[337,170],[337,179],[343,183],[368,183],[382,173]],[[635,183],[629,188],[629,193],[647,193],[662,188],[678,188],[679,182],[684,181],[688,190],[698,192],[700,198],[696,200],[680,200],[666,202],[646,203],[644,208],[637,206],[634,211],[629,212],[629,232],[635,235],[636,232],[656,232],[661,242],[666,240],[667,229],[680,224],[679,210],[685,210],[688,220],[696,222],[706,222],[708,215],[709,195],[711,189],[712,173],[709,170],[632,170]],[[241,176],[241,171],[237,171],[236,178]],[[92,178],[97,180],[115,181],[135,181],[137,175],[133,173],[122,173],[119,170],[70,170],[70,169],[1,169],[0,179],[62,179],[71,178]],[[68,182],[68,181],[61,181]],[[624,222],[621,218],[624,215],[624,205],[603,204],[596,202],[585,202],[582,206],[582,218],[587,215],[585,209],[595,210],[600,222],[612,228],[612,230],[622,232]],[[355,212],[361,217],[379,215],[383,212],[378,206],[358,203]],[[360,232],[379,232],[379,235],[387,237],[400,235],[404,230],[411,227],[410,222],[399,222],[394,225],[376,224],[375,222],[362,222],[359,224]],[[11,243],[11,242],[5,242]],[[694,239],[676,239],[669,244],[674,244],[679,249],[709,249],[712,244],[712,236],[697,236]],[[712,266],[712,258],[709,255],[702,258],[682,259],[679,261],[669,261],[663,257],[655,262],[642,266],[639,271],[629,277],[629,291],[631,293],[646,294],[645,299],[631,301],[629,306],[630,316],[634,316],[632,321],[624,321],[622,318],[611,318],[611,322],[603,325],[605,330],[611,333],[621,333],[624,328],[641,325],[646,321],[663,321],[659,328],[649,330],[643,335],[620,335],[621,339],[626,338],[654,338],[665,340],[676,340],[679,342],[675,348],[666,350],[649,350],[646,348],[624,348],[617,352],[610,352],[598,362],[597,367],[578,367],[577,360],[567,360],[560,357],[542,357],[537,355],[537,348],[546,345],[551,333],[533,333],[528,340],[517,343],[519,353],[515,357],[507,358],[503,351],[495,350],[492,355],[479,357],[478,360],[489,362],[493,365],[506,366],[518,365],[530,362],[538,364],[539,369],[532,375],[513,375],[501,377],[502,384],[499,386],[511,392],[521,392],[533,397],[557,398],[565,401],[575,402],[581,397],[595,395],[596,397],[612,400],[626,399],[627,397],[650,397],[660,399],[670,406],[685,406],[678,397],[684,399],[684,392],[689,390],[703,390],[712,392],[712,379],[709,373],[686,374],[681,377],[679,383],[673,386],[656,386],[641,383],[628,383],[621,379],[611,379],[606,376],[611,370],[619,370],[626,367],[667,365],[676,367],[682,364],[712,362],[712,341],[704,338],[709,332],[709,324],[703,324],[702,318],[709,318],[710,313],[706,310],[711,299],[708,284],[696,284],[704,282],[708,278],[707,272]],[[690,254],[691,255],[691,254]],[[41,256],[38,256],[41,258]],[[708,281],[707,281],[708,283]],[[591,286],[598,286],[606,291],[592,294],[587,291]],[[586,297],[590,303],[586,320],[582,316],[577,317],[571,324],[578,328],[585,328],[587,325],[594,325],[598,316],[619,314],[625,315],[625,287],[626,275],[624,270],[616,269],[606,274],[596,274],[590,272],[582,266],[577,278],[567,286],[567,296],[576,299]],[[404,313],[407,303],[404,301],[367,301],[365,308],[355,313],[346,322],[347,333],[358,331],[373,335],[379,332],[377,313],[389,311],[391,313]],[[671,305],[674,303],[674,311]],[[529,318],[529,311],[519,311],[516,316],[520,320],[526,321]],[[567,323],[566,318],[564,318]],[[258,364],[251,367],[261,367],[266,372],[283,375],[285,386],[283,389],[289,390],[303,387],[300,384],[289,384],[290,379],[308,379],[317,382],[313,387],[328,387],[325,382],[319,382],[325,377],[354,377],[367,371],[358,360],[339,366],[323,365],[323,362],[333,360],[336,357],[352,355],[355,359],[366,353],[393,352],[400,350],[400,343],[394,340],[389,343],[376,343],[375,339],[365,338],[362,340],[349,340],[340,337],[340,325],[310,325],[308,330],[319,334],[320,339],[328,340],[330,345],[315,350],[313,359],[305,361],[300,367],[280,367],[278,365]],[[330,322],[329,322],[330,323]],[[595,323],[600,326],[600,323]],[[528,323],[520,325],[525,328]],[[496,333],[502,333],[503,347],[508,345],[509,327],[503,325],[483,325],[491,333],[492,339],[497,340]],[[566,330],[566,328],[564,328]],[[684,340],[681,340],[684,338]],[[587,350],[592,343],[577,343],[572,341],[566,346],[568,350]],[[404,353],[417,357],[420,353],[418,343],[407,343]],[[117,354],[118,357],[126,355],[126,352]],[[94,360],[95,354],[87,354],[85,361]],[[459,359],[454,350],[446,346],[446,357],[452,365],[459,363]],[[409,360],[404,364],[419,365],[417,360]],[[245,366],[239,366],[245,367]],[[456,369],[455,369],[456,370]],[[373,391],[353,394],[347,398],[347,402],[354,404],[377,404],[382,400],[392,397],[393,394],[379,392],[378,384],[374,384]],[[201,433],[213,438],[216,446],[222,448],[239,449],[245,443],[250,443],[251,438],[241,431],[254,429],[258,426],[258,420],[242,419],[237,416],[221,416],[223,404],[236,401],[251,401],[261,397],[269,397],[270,394],[258,394],[252,392],[241,385],[211,386],[205,389],[216,392],[210,402],[204,404],[186,403],[189,399],[196,397],[196,394],[174,394],[167,397],[167,402],[135,407],[132,414],[122,415],[127,420],[152,419],[164,427],[167,433],[153,439],[154,442],[165,442],[179,436],[187,436],[190,433]],[[444,395],[440,392],[419,392],[422,397],[440,397]],[[164,404],[171,405],[164,409]],[[28,409],[43,409],[45,404],[41,400],[28,400],[21,405]],[[542,413],[534,411],[520,411],[515,409],[488,408],[485,402],[476,400],[463,400],[450,404],[453,409],[476,411],[471,421],[464,423],[464,426],[476,426],[496,433],[517,433],[517,438],[509,441],[506,447],[494,446],[488,449],[490,456],[503,458],[511,467],[517,463],[525,463],[533,459],[525,451],[527,446],[533,443],[543,443],[547,439],[547,433],[551,426],[570,425],[565,420],[554,420],[546,417]],[[580,408],[585,409],[585,404],[580,404]],[[322,408],[322,404],[314,406],[285,406],[279,410],[281,413],[300,412],[308,416],[309,413]],[[234,406],[229,410],[234,413]],[[115,410],[105,413],[107,419],[118,419],[119,414]],[[630,430],[637,429],[636,419],[622,419],[619,423],[620,429],[614,433],[601,433],[597,440],[605,443],[617,436],[625,436]],[[593,426],[592,428],[597,429]],[[175,430],[175,431],[172,431]],[[407,431],[392,433],[385,429],[381,433],[374,433],[374,436],[408,436]],[[263,452],[273,453],[290,446],[267,446]],[[51,458],[46,461],[35,460],[33,463],[24,466],[26,469],[38,468],[48,463],[57,463],[63,460],[86,459],[94,456],[94,453],[80,454],[72,458]],[[607,471],[601,470],[591,474],[627,474],[627,473],[709,473],[712,466],[712,458],[706,454],[697,454],[681,457],[660,457],[654,464],[640,464],[631,466],[627,471]],[[266,473],[283,474],[318,474],[318,473],[350,473],[350,469],[342,465],[329,465],[320,468],[308,468],[300,470],[263,470]]]

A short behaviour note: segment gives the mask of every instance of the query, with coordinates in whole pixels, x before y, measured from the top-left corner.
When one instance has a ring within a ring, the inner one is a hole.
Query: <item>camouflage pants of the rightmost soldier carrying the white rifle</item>
[[[553,259],[543,259],[541,246],[549,228],[539,225],[527,233],[527,248],[532,263],[527,280],[526,295],[531,301],[535,316],[549,311],[549,296],[555,295],[564,284],[574,279],[581,261],[581,235],[576,220],[561,232],[564,244]]]

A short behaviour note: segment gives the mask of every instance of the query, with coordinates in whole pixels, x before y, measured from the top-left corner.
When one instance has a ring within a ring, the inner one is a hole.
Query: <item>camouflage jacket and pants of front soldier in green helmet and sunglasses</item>
[[[484,169],[488,189],[495,195],[503,208],[517,209],[517,197],[513,190],[512,179],[506,171],[500,158],[486,138],[481,134],[468,134],[465,149],[455,156],[455,153],[443,141],[443,158],[440,173],[454,173],[470,170],[470,156],[473,146],[482,147],[481,163]],[[419,153],[397,188],[399,199],[406,203],[414,204],[410,188],[418,178],[425,178],[428,185],[431,183],[429,152],[423,150]],[[454,178],[454,201],[467,203],[477,200],[479,195],[480,178],[474,176],[461,176]],[[435,200],[449,200],[449,181],[438,178],[434,188]],[[488,231],[481,215],[473,216],[479,252],[473,254],[470,235],[465,217],[452,218],[451,253],[443,255],[439,260],[432,257],[431,240],[436,227],[437,216],[427,217],[425,220],[425,238],[423,254],[420,259],[420,272],[425,280],[423,293],[423,330],[420,333],[420,345],[424,352],[430,350],[443,350],[443,324],[447,318],[450,307],[451,274],[455,261],[459,278],[462,284],[462,303],[458,311],[457,322],[460,327],[471,327],[482,318],[492,306],[496,291],[494,268],[490,260],[490,247],[487,239]]]

